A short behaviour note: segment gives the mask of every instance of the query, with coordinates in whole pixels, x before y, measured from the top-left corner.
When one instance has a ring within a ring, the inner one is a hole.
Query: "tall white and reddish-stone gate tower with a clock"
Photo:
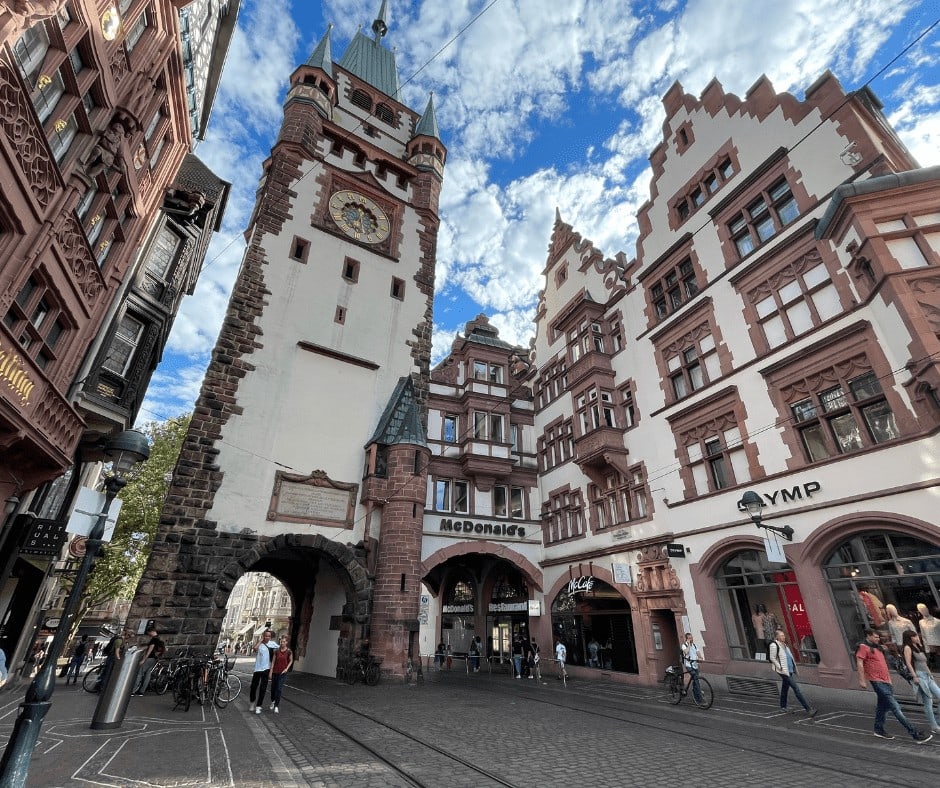
[[[266,571],[292,596],[298,669],[332,674],[363,638],[404,667],[446,149],[433,101],[399,100],[386,17],[383,2],[337,62],[328,30],[291,75],[131,611],[174,644],[214,645],[235,581]]]

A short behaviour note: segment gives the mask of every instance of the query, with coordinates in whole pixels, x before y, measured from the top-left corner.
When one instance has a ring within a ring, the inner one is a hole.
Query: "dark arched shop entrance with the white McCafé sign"
[[[639,672],[630,603],[596,577],[572,579],[552,600],[552,636],[571,665]]]

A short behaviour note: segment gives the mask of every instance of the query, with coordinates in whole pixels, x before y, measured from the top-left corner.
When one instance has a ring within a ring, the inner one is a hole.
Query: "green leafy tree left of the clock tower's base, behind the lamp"
[[[137,466],[121,490],[121,513],[110,543],[102,548],[82,597],[74,626],[85,614],[114,599],[130,599],[150,557],[173,468],[192,414],[151,421],[140,428],[150,440],[150,458]]]

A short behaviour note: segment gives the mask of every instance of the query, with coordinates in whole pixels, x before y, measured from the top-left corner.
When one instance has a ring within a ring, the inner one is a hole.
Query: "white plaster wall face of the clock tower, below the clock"
[[[402,376],[414,368],[412,329],[426,302],[412,280],[418,245],[417,220],[408,210],[402,256],[396,262],[310,226],[320,199],[321,165],[296,181],[293,219],[278,236],[265,236],[271,291],[259,319],[263,348],[247,357],[256,366],[240,382],[241,415],[232,416],[218,446],[222,486],[209,512],[219,528],[250,528],[265,535],[322,532],[355,541],[340,529],[266,519],[276,470],[309,474],[322,470],[335,480],[361,483],[363,446],[371,437]],[[294,235],[311,240],[306,264],[289,258]],[[360,261],[359,281],[341,276],[346,255]],[[390,295],[392,277],[405,280],[403,301]],[[347,308],[344,325],[334,321],[337,303]],[[325,346],[378,365],[375,370],[303,350],[299,341]],[[357,507],[355,536],[362,533]]]

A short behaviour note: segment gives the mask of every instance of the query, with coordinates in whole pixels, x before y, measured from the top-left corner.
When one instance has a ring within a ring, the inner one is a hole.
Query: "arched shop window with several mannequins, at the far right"
[[[833,550],[824,571],[849,649],[866,629],[881,632],[889,648],[914,629],[927,650],[940,655],[940,546],[868,531]]]

